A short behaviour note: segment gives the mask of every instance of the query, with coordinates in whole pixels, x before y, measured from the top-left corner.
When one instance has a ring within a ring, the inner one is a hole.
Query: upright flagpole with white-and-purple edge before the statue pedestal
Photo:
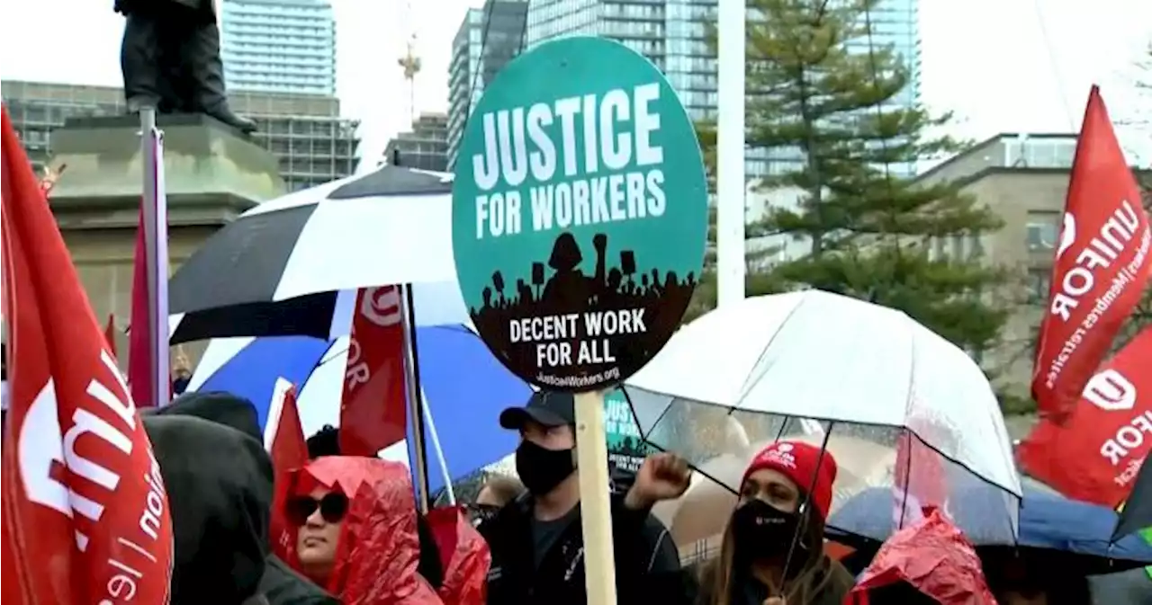
[[[164,183],[164,132],[156,128],[156,109],[141,109],[143,159],[144,252],[147,267],[147,306],[151,404],[162,406],[170,397],[168,369],[168,204]]]

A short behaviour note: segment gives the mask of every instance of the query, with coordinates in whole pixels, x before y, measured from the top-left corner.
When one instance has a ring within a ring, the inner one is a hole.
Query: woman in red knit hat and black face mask
[[[720,557],[702,569],[698,605],[841,605],[852,576],[824,554],[835,480],[832,453],[804,442],[756,454]]]

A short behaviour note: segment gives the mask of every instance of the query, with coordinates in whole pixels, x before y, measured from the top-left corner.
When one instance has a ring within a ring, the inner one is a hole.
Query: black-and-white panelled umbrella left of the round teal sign
[[[266,201],[168,282],[172,343],[331,336],[340,290],[454,282],[452,175],[385,166]]]

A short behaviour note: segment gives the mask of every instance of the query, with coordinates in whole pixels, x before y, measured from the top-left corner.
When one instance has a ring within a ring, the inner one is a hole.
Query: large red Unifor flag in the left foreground
[[[10,408],[5,603],[168,602],[160,468],[44,193],[0,107],[0,252]],[[0,554],[3,554],[0,552]]]

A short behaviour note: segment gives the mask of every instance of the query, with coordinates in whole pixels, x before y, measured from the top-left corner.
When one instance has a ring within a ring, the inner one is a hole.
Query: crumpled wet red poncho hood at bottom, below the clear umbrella
[[[940,605],[996,605],[972,543],[937,510],[889,537],[844,605],[867,605],[872,589],[907,582]]]

